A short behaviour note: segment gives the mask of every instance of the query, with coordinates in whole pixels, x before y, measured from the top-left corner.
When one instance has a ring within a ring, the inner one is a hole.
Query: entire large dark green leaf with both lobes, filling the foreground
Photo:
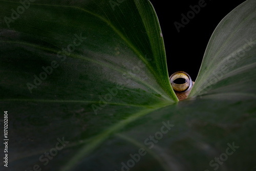
[[[1,170],[253,170],[254,1],[218,25],[179,102],[147,0],[24,2],[0,1]]]

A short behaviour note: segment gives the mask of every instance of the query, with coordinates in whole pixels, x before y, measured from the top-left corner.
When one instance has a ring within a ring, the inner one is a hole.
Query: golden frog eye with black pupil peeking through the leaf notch
[[[193,86],[193,81],[191,80],[190,76],[183,71],[173,73],[169,80],[175,92],[181,93],[190,91],[191,87]]]

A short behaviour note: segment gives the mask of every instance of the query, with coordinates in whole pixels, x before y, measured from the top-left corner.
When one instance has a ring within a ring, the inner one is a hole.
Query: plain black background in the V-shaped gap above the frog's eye
[[[181,14],[186,15],[191,11],[189,6],[198,5],[199,0],[150,1],[162,30],[169,76],[176,71],[185,71],[194,81],[211,34],[230,11],[245,2],[205,0],[206,6],[178,33],[174,22],[181,23]]]

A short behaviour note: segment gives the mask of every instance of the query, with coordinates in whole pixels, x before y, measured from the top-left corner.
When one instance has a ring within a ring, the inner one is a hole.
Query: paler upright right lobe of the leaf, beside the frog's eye
[[[255,8],[253,1],[246,1],[222,19],[209,40],[190,97],[255,97]]]

